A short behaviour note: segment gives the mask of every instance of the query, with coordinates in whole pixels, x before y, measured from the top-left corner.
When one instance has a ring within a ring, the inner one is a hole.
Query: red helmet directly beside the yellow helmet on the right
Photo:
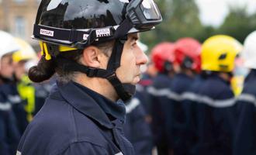
[[[182,38],[175,43],[175,64],[201,71],[201,43],[193,38]]]

